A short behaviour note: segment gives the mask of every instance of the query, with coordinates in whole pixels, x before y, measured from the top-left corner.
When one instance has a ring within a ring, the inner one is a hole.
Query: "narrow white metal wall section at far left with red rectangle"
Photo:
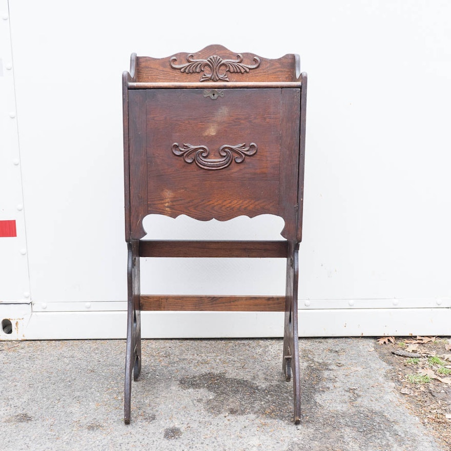
[[[4,329],[17,336],[19,321],[31,313],[21,172],[10,16],[0,0],[0,338]]]

